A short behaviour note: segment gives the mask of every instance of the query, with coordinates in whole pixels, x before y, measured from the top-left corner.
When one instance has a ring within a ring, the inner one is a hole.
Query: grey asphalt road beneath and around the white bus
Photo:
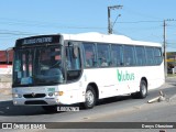
[[[0,122],[176,122],[176,87],[175,78],[167,79],[163,87],[151,90],[145,99],[132,99],[130,96],[103,99],[90,110],[80,107],[78,112],[45,112],[41,107],[14,107],[12,101],[0,102]],[[162,90],[166,101],[147,103]],[[73,124],[74,125],[74,124]],[[80,124],[81,125],[81,124]],[[101,124],[103,125],[103,124]],[[107,124],[105,124],[107,125]],[[105,125],[102,128],[105,128]],[[80,127],[81,128],[81,127]],[[101,127],[98,127],[101,128]],[[55,130],[52,130],[55,131]],[[56,130],[58,131],[58,130]],[[117,131],[113,129],[69,130],[61,131]],[[160,129],[118,129],[120,132],[158,132]],[[176,132],[168,129],[167,132]]]

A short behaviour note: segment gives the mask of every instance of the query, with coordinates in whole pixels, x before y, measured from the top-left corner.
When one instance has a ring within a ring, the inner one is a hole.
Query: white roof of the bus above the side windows
[[[64,36],[64,40],[73,40],[73,41],[161,46],[160,43],[134,41],[124,35],[101,34],[97,32],[79,33],[79,34],[62,34],[62,35]]]

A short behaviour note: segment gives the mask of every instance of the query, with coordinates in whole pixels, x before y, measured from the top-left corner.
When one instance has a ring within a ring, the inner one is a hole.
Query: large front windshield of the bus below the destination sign
[[[13,85],[63,82],[62,46],[20,48],[15,51]]]

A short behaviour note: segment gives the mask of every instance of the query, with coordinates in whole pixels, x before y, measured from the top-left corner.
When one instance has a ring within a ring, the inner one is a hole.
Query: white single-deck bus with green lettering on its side
[[[165,82],[162,46],[101,33],[19,38],[14,46],[12,95],[15,106],[81,103],[131,95],[145,98]]]

